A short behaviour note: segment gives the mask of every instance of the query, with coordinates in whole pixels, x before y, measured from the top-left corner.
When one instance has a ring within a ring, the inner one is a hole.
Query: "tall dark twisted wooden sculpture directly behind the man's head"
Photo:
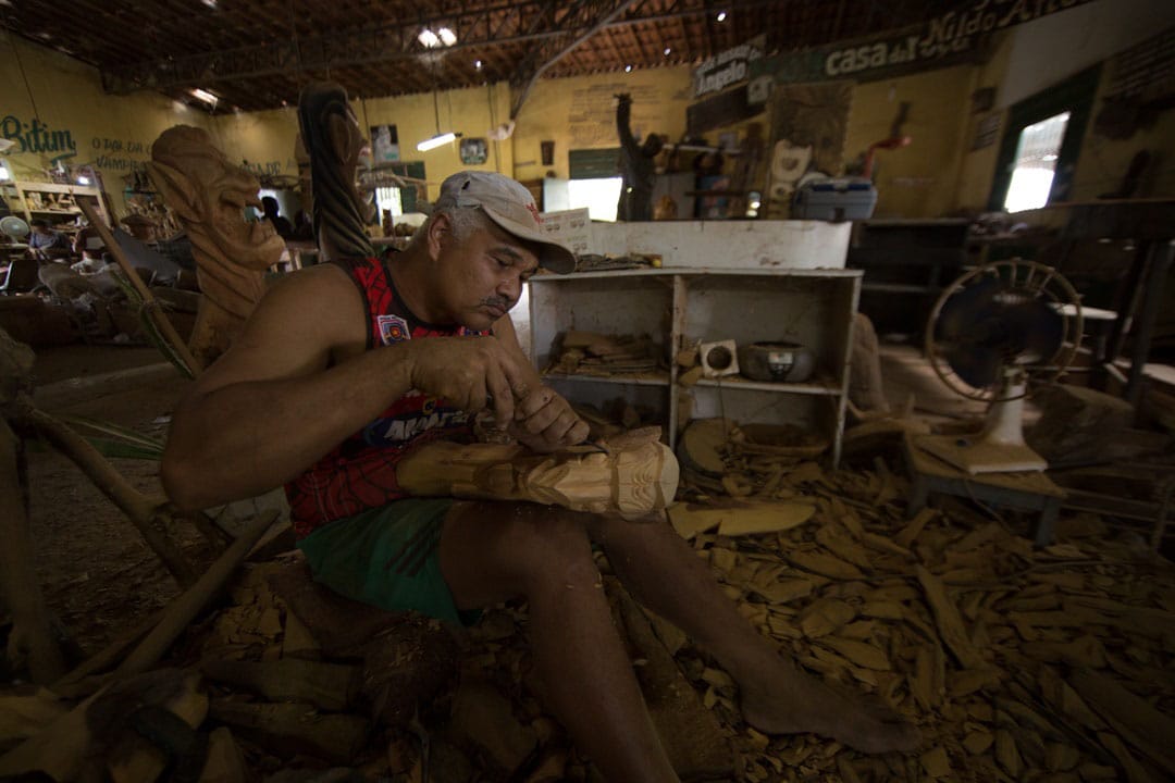
[[[320,263],[333,258],[375,256],[367,225],[369,207],[355,188],[363,133],[335,82],[311,82],[298,97],[298,128],[310,156],[314,236]]]

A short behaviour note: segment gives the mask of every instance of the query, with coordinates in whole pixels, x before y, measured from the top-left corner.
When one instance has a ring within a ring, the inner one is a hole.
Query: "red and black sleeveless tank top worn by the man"
[[[368,350],[405,339],[488,333],[416,318],[396,293],[384,261],[347,258],[333,263],[355,281],[363,297]],[[286,485],[295,535],[306,538],[327,522],[403,498],[396,484],[396,463],[408,448],[437,438],[469,439],[471,432],[469,413],[442,398],[409,391]]]

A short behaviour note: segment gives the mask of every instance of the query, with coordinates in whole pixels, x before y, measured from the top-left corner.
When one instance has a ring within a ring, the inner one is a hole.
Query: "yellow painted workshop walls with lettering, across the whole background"
[[[1159,0],[1128,0],[1132,7],[1146,7],[1160,14],[1160,21],[1171,15],[1175,5]],[[1129,46],[1156,27],[1140,26],[1134,15],[1107,14],[1104,4],[1086,6],[1022,25],[998,38],[986,62],[922,72],[895,79],[866,82],[854,87],[850,110],[845,161],[862,154],[870,143],[889,135],[891,126],[902,101],[908,101],[909,115],[902,133],[912,143],[902,149],[877,154],[877,217],[927,218],[975,211],[985,208],[995,169],[999,142],[974,149],[979,124],[998,116],[1003,133],[1006,109],[1012,97],[1043,89],[1045,79],[1072,75],[1085,67],[1090,56],[1103,56],[1106,43],[1097,40],[1069,14],[1093,14],[1114,46]],[[1119,19],[1121,16],[1121,19]],[[1085,16],[1082,16],[1085,18]],[[1060,20],[1060,21],[1059,21]],[[1116,21],[1115,21],[1116,20]],[[1141,32],[1140,32],[1141,31]],[[116,214],[125,211],[123,190],[132,171],[149,158],[150,144],[166,128],[187,123],[203,127],[224,150],[229,160],[248,162],[258,174],[296,174],[294,139],[297,116],[294,107],[249,114],[204,112],[152,93],[107,95],[102,92],[96,69],[78,62],[52,48],[29,43],[0,33],[2,45],[14,55],[0,59],[0,90],[4,103],[0,117],[6,128],[27,134],[35,116],[51,136],[74,144],[73,155],[62,158],[73,166],[96,168]],[[1028,50],[1055,50],[1047,68],[1029,68]],[[1068,54],[1066,54],[1068,53]],[[1026,59],[1027,58],[1027,59]],[[1020,62],[1021,67],[1015,67]],[[1109,68],[1103,68],[1101,89]],[[27,77],[27,88],[26,80]],[[991,108],[974,112],[972,95],[976,89],[994,89]],[[599,149],[617,146],[613,95],[633,95],[633,130],[644,136],[660,133],[671,141],[685,134],[686,109],[692,99],[692,68],[689,66],[636,70],[629,74],[540,80],[523,104],[517,127],[503,142],[489,140],[489,131],[504,123],[515,96],[508,85],[445,90],[402,97],[354,101],[352,108],[364,128],[394,123],[397,127],[401,158],[423,160],[430,183],[466,167],[461,162],[458,142],[418,153],[416,143],[441,130],[452,129],[465,137],[488,139],[488,160],[481,168],[497,170],[521,181],[535,182],[553,174],[569,175],[568,153],[571,149]],[[1100,108],[1095,106],[1094,115]],[[438,122],[439,120],[439,122]],[[748,120],[766,127],[766,114]],[[731,129],[743,131],[748,122],[706,134],[716,143],[718,134]],[[56,133],[56,136],[52,134]],[[543,166],[540,143],[555,143],[553,162]],[[770,142],[770,140],[767,140]],[[1086,134],[1074,174],[1070,197],[1090,198],[1117,188],[1121,176],[1139,149],[1155,156],[1153,170],[1137,195],[1156,196],[1175,191],[1175,113],[1167,110],[1157,121],[1129,139],[1110,140],[1093,131]],[[48,151],[9,151],[5,160],[16,178],[42,178],[55,155]],[[833,173],[839,174],[839,173]]]

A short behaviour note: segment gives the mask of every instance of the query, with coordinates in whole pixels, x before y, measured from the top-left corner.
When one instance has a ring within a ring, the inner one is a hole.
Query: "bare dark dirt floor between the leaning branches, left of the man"
[[[162,439],[188,386],[153,349],[69,345],[38,351],[41,410],[110,421]],[[136,490],[162,494],[154,461],[113,459]],[[101,649],[177,594],[175,581],[127,517],[78,467],[28,444],[31,525],[46,600],[81,653]],[[200,556],[202,540],[182,541]]]

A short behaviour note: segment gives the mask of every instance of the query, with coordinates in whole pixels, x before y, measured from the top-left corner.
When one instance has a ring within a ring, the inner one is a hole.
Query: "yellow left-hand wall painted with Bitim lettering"
[[[207,127],[206,114],[177,110],[170,99],[155,93],[106,95],[98,70],[53,49],[2,32],[0,48],[9,53],[0,58],[0,133],[9,135],[19,123],[27,136],[35,117],[51,134],[61,134],[59,142],[68,133],[75,148],[66,154],[70,150],[22,153],[14,147],[5,160],[18,180],[47,180],[54,157],[66,154],[61,158],[66,166],[99,169],[112,207],[121,214],[130,173],[150,157],[159,134],[180,122]]]

